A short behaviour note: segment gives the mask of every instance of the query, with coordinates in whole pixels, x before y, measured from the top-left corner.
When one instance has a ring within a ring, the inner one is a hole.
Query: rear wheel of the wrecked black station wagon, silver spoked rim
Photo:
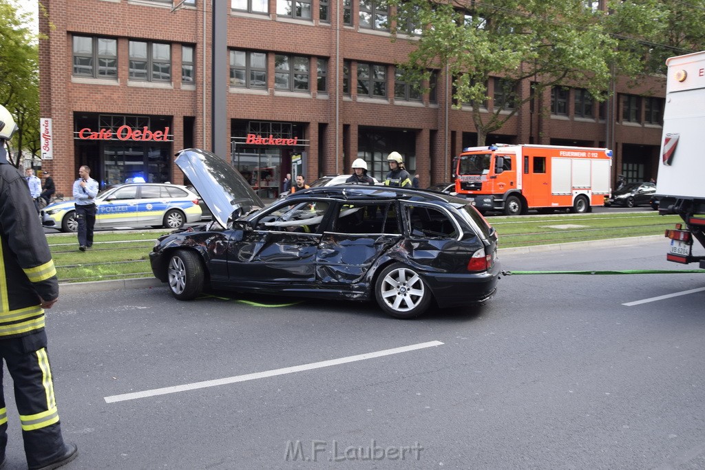
[[[431,304],[431,290],[415,269],[401,263],[390,264],[374,283],[377,304],[397,319],[412,319]]]

